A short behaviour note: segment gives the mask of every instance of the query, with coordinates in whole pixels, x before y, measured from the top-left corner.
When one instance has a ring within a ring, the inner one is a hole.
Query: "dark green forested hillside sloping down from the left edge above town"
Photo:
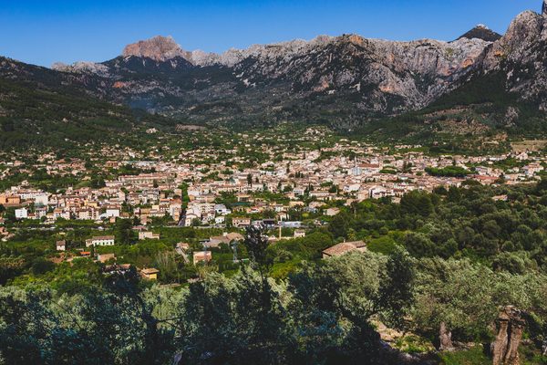
[[[181,124],[117,105],[99,78],[59,74],[0,58],[0,151],[72,150],[86,143],[138,145],[145,130]],[[95,90],[95,91],[94,91]]]

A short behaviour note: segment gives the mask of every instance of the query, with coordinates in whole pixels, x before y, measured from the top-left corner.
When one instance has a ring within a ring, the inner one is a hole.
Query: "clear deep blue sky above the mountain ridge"
[[[102,62],[152,36],[182,48],[221,53],[236,47],[318,35],[450,41],[484,24],[505,33],[541,0],[2,1],[0,56],[39,66]]]

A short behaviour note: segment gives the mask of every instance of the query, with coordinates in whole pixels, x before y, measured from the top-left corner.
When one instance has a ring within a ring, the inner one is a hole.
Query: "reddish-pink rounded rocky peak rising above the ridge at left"
[[[128,45],[121,57],[149,57],[155,61],[166,61],[173,57],[191,59],[191,53],[182,49],[171,36],[154,36],[147,40]]]

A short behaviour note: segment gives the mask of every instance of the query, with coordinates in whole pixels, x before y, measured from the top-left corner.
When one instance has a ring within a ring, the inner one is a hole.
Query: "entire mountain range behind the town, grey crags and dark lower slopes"
[[[102,63],[55,63],[50,77],[94,98],[212,125],[352,128],[418,110],[494,105],[492,125],[520,126],[547,108],[546,45],[544,5],[542,14],[517,16],[503,36],[480,25],[451,42],[317,36],[218,55],[155,36]]]

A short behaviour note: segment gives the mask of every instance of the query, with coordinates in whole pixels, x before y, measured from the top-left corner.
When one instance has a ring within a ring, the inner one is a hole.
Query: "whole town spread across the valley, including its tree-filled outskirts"
[[[137,233],[139,241],[161,241],[165,237],[159,231],[190,227],[199,235],[179,237],[167,251],[183,255],[184,263],[207,264],[212,253],[205,254],[202,247],[243,240],[250,225],[269,228],[271,243],[302,238],[309,229],[328,226],[343,207],[351,210],[357,203],[378,199],[400,203],[412,191],[446,193],[451,186],[469,181],[492,186],[535,183],[547,166],[543,151],[533,143],[528,151],[465,156],[431,153],[421,145],[377,147],[345,138],[321,147],[332,137],[328,130],[307,128],[303,134],[293,136],[294,141],[281,136],[280,142],[272,143],[260,132],[239,133],[225,148],[172,151],[165,146],[147,152],[103,147],[87,156],[64,159],[46,153],[35,156],[37,163],[32,165],[21,161],[24,157],[11,156],[0,162],[4,182],[15,176],[19,181],[21,176],[27,178],[0,194],[5,209],[0,220],[2,241],[17,242],[20,228],[57,229],[55,236],[64,238],[66,232],[59,232],[63,225],[77,231],[77,222],[85,222],[93,228],[85,237],[79,235],[81,247],[72,245],[75,255],[51,256],[51,260],[89,257],[113,264],[125,261],[117,261],[108,247],[135,244]],[[43,182],[29,183],[35,174],[75,183],[53,191]],[[506,201],[507,196],[495,197],[499,199]],[[119,242],[112,230],[121,221],[127,221],[135,233],[122,238],[125,242]],[[52,253],[63,253],[70,246],[62,239],[56,243]],[[335,244],[344,242],[334,240]],[[366,243],[357,245],[366,248]],[[341,246],[341,252],[347,247]],[[323,256],[331,252],[339,250],[323,250]]]

